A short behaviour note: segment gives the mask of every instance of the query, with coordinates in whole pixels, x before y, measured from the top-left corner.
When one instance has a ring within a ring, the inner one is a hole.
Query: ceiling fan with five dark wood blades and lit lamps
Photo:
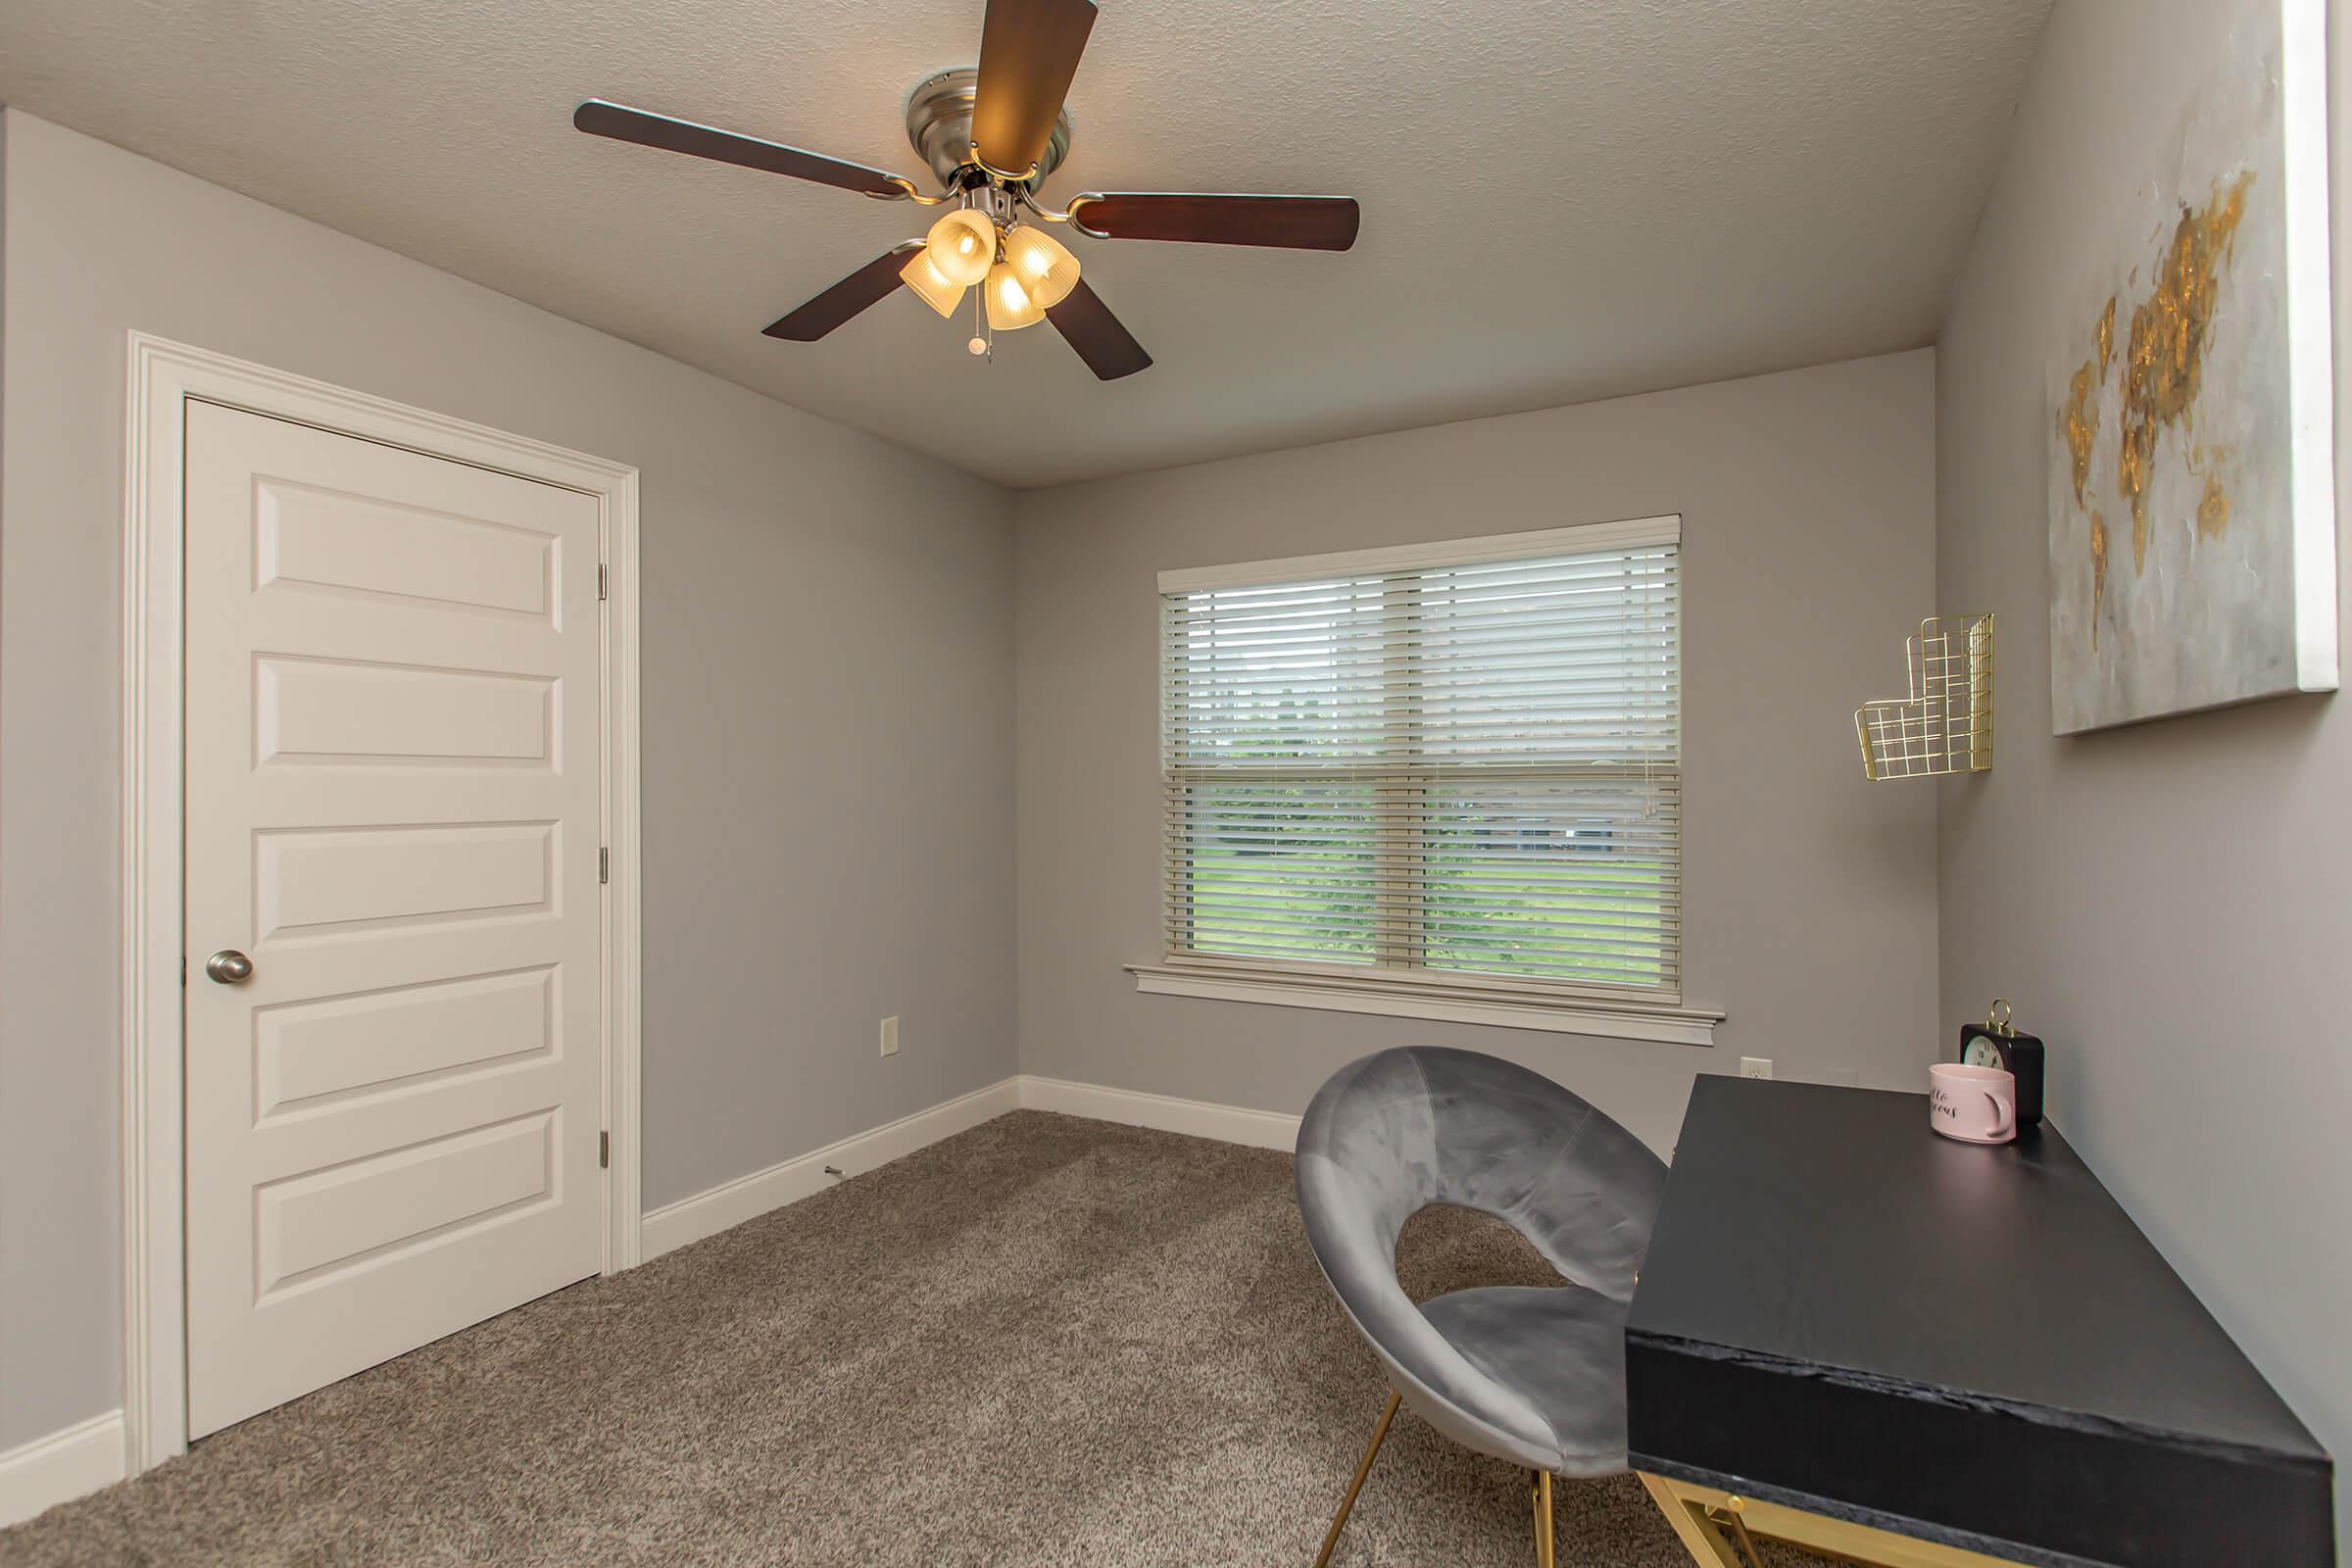
[[[814,343],[901,284],[941,315],[953,315],[964,292],[978,287],[971,353],[990,355],[997,331],[1044,320],[1087,369],[1117,381],[1145,369],[1152,357],[1087,287],[1077,256],[1047,226],[1061,223],[1089,240],[1343,252],[1355,244],[1359,212],[1348,195],[1169,190],[1087,190],[1058,212],[1042,205],[1037,186],[1070,155],[1063,99],[1091,28],[1094,0],[988,0],[978,68],[941,71],[920,82],[906,103],[908,141],[938,176],[934,195],[901,174],[602,99],[581,103],[572,125],[614,141],[788,174],[884,202],[948,207],[927,237],[894,244],[769,324],[771,339]]]

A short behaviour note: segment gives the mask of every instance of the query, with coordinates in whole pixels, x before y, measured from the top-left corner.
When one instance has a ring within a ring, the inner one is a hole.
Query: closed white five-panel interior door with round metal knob
[[[202,1436],[602,1262],[600,505],[205,402],[186,437]]]

